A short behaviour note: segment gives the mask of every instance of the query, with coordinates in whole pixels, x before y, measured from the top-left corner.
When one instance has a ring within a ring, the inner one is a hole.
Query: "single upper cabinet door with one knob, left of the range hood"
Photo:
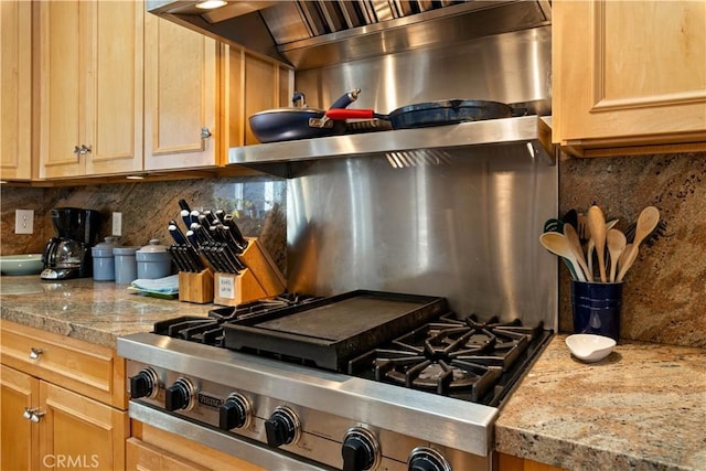
[[[216,42],[145,20],[145,170],[217,165]]]

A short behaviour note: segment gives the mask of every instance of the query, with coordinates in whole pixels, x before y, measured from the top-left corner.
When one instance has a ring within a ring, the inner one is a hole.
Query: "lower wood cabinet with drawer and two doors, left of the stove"
[[[124,360],[8,321],[0,352],[0,469],[125,469]]]

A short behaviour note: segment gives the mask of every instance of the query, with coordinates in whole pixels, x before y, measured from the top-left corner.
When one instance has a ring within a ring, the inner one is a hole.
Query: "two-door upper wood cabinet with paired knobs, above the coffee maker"
[[[40,176],[141,170],[145,4],[38,6]]]

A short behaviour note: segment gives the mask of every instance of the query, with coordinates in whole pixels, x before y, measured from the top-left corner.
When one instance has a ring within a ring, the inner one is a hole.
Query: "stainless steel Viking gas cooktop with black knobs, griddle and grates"
[[[118,353],[131,417],[237,442],[259,465],[445,470],[490,467],[498,407],[550,336],[443,298],[360,290],[159,322]]]

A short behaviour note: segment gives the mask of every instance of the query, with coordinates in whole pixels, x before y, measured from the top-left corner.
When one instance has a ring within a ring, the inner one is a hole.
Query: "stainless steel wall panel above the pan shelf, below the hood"
[[[550,69],[552,26],[542,26],[297,71],[295,87],[313,107],[328,107],[345,90],[361,88],[350,108],[389,113],[459,98],[527,103],[531,114],[550,115]]]

